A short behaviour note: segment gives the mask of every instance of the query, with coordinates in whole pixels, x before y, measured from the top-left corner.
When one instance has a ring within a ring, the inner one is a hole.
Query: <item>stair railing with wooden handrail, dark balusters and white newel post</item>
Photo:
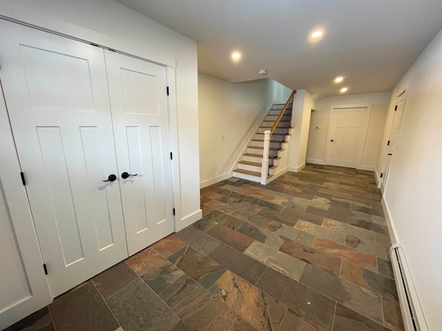
[[[293,101],[296,90],[291,92],[289,99],[282,108],[278,118],[271,127],[271,130],[264,132],[264,150],[262,153],[262,167],[261,167],[261,184],[267,183],[269,176],[269,169],[273,166],[274,159],[278,157],[278,150],[282,147],[282,142],[285,141],[286,134],[289,134],[291,127],[291,111],[289,104]]]

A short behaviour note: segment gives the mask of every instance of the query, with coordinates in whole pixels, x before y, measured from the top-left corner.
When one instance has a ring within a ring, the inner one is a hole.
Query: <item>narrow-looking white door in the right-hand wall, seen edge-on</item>
[[[390,131],[390,137],[388,139],[388,148],[387,148],[387,158],[385,159],[384,169],[383,169],[383,177],[381,177],[381,181],[379,183],[379,189],[383,193],[385,191],[385,187],[387,185],[387,179],[390,174],[390,165],[392,163],[392,157],[394,152],[398,148],[397,139],[399,135],[399,129],[401,128],[401,121],[403,110],[405,108],[405,97],[406,94],[403,93],[398,97],[397,105],[394,111],[394,118],[392,124],[392,130]]]

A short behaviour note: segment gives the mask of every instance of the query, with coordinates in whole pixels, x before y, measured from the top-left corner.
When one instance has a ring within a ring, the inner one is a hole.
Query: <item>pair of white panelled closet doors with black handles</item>
[[[1,84],[55,297],[174,230],[166,68],[1,19],[0,30]]]

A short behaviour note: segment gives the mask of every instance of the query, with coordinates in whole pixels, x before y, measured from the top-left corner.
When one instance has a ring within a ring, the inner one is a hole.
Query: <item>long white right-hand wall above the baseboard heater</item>
[[[430,330],[441,330],[442,325],[441,72],[442,30],[392,91],[383,134],[386,143],[396,97],[408,86],[399,146],[392,157],[383,199]],[[384,160],[385,152],[381,151],[378,172]]]

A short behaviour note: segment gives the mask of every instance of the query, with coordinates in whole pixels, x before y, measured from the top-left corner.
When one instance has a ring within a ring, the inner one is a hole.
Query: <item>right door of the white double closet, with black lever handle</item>
[[[174,230],[166,68],[106,51],[129,255]],[[131,174],[122,179],[122,173]]]

